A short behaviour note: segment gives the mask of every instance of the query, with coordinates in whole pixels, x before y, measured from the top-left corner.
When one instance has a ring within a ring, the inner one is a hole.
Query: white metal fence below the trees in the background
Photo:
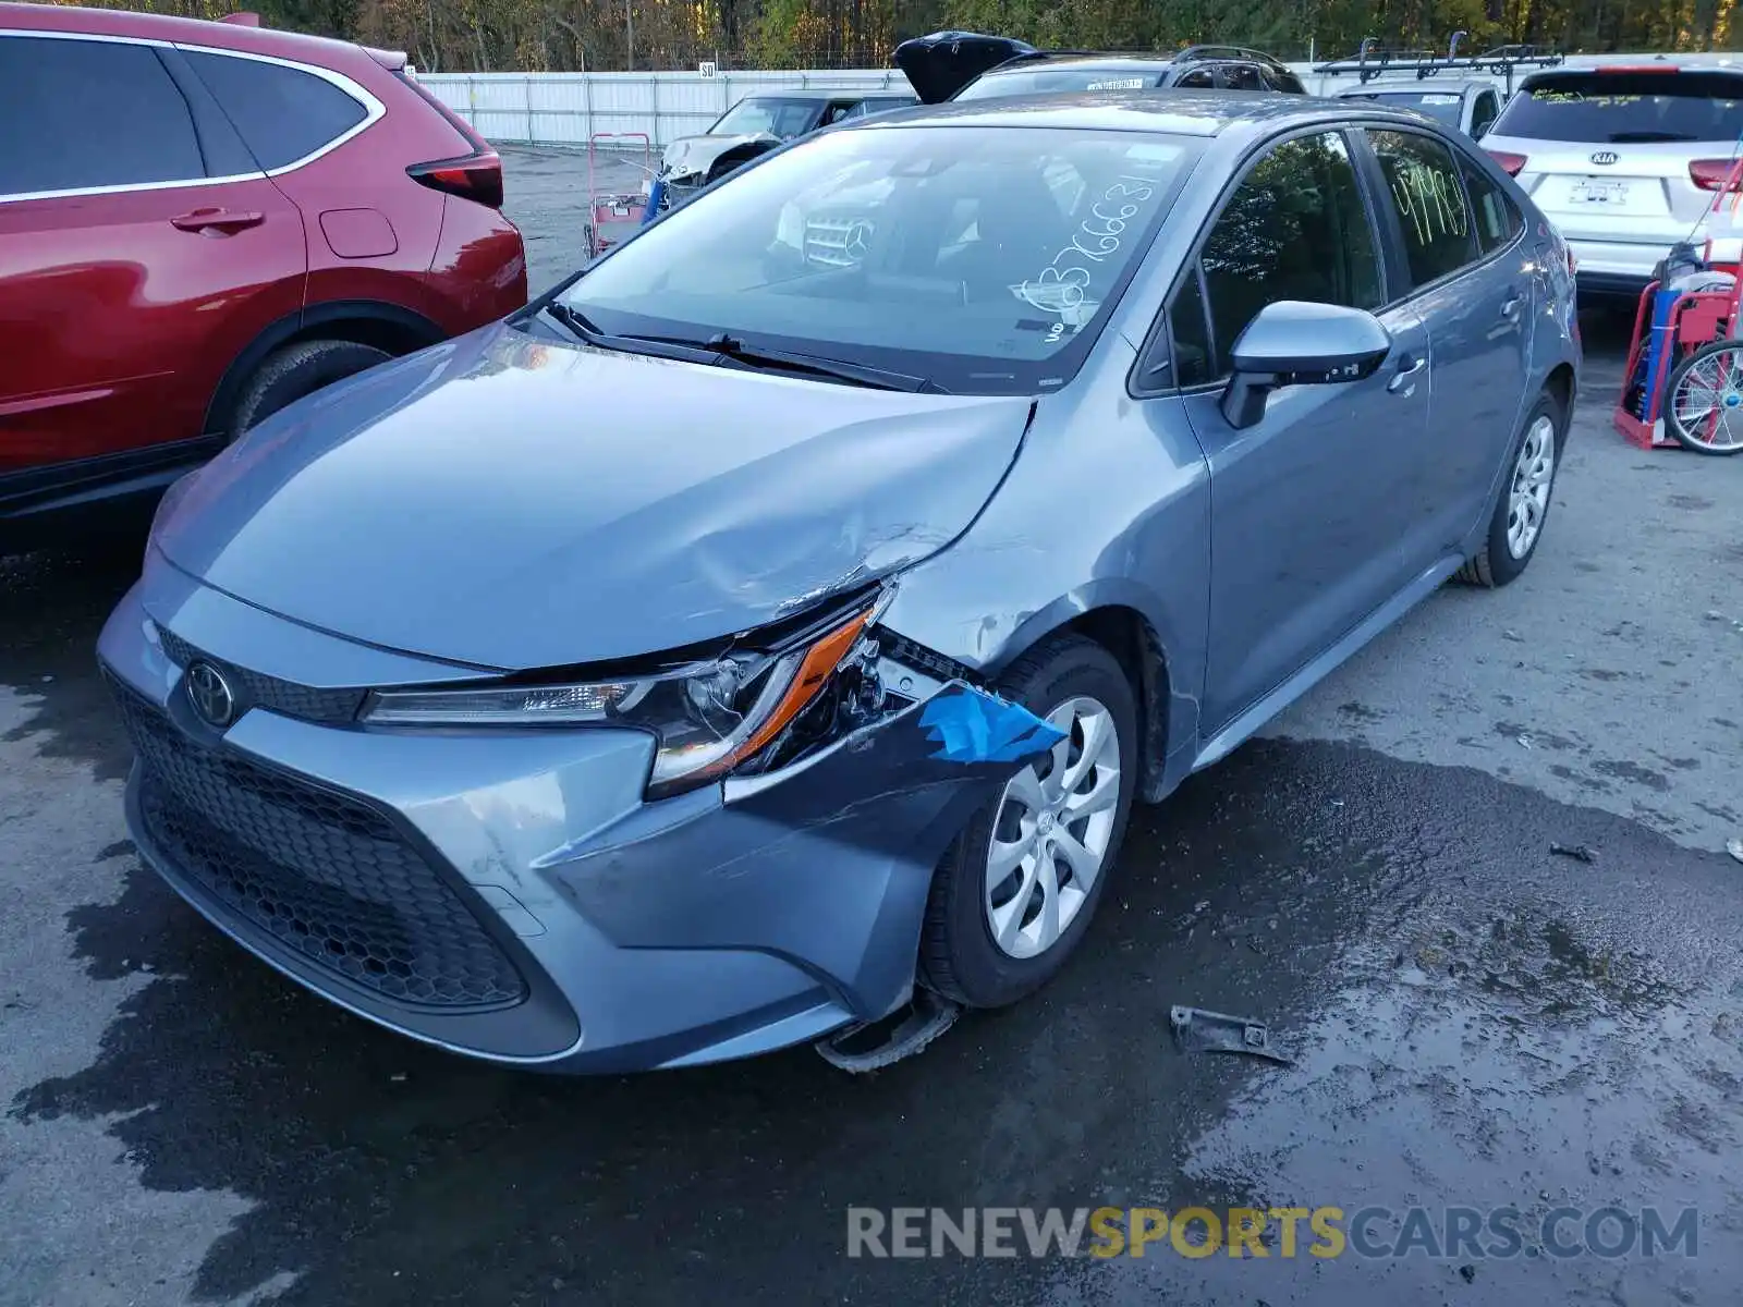
[[[1576,54],[1567,66],[1638,64],[1652,54]],[[1743,64],[1743,56],[1684,54],[1679,61]],[[1354,75],[1319,77],[1314,64],[1292,63],[1312,92],[1356,84]],[[1525,70],[1529,71],[1529,70]],[[1468,77],[1461,73],[1459,77]],[[908,91],[894,68],[849,71],[701,73],[422,73],[424,85],[481,136],[502,145],[586,145],[593,132],[645,132],[659,146],[708,125],[744,96],[800,87]],[[1499,77],[1485,77],[1497,87]],[[1424,82],[1433,87],[1434,82]]]

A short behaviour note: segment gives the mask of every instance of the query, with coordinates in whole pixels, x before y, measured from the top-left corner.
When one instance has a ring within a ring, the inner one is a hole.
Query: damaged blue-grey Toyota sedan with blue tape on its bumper
[[[1523,570],[1570,314],[1530,202],[1380,108],[824,132],[180,483],[101,641],[129,826],[446,1049],[872,1065],[1060,969],[1136,798]]]

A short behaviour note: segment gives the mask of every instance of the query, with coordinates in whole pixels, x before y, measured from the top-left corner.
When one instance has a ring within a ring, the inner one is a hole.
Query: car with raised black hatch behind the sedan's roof
[[[1175,54],[1041,51],[1011,37],[936,31],[896,47],[896,66],[927,105],[1044,96],[1061,91],[1281,91],[1306,94],[1283,63],[1241,45],[1190,45]]]

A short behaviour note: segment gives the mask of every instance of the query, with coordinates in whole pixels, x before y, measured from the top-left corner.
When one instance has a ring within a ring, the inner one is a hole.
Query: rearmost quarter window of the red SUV
[[[187,52],[263,169],[307,159],[368,117],[331,82],[260,59]]]

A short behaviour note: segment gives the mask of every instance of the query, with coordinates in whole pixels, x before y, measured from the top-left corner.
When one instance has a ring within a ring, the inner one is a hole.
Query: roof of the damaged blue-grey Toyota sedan
[[[1421,113],[1365,105],[1363,117],[1421,125]],[[851,131],[913,125],[1082,127],[1096,131],[1222,136],[1251,127],[1265,131],[1299,122],[1347,122],[1351,106],[1319,96],[1279,96],[1265,91],[1067,91],[1004,99],[967,99],[898,110],[852,124]]]

